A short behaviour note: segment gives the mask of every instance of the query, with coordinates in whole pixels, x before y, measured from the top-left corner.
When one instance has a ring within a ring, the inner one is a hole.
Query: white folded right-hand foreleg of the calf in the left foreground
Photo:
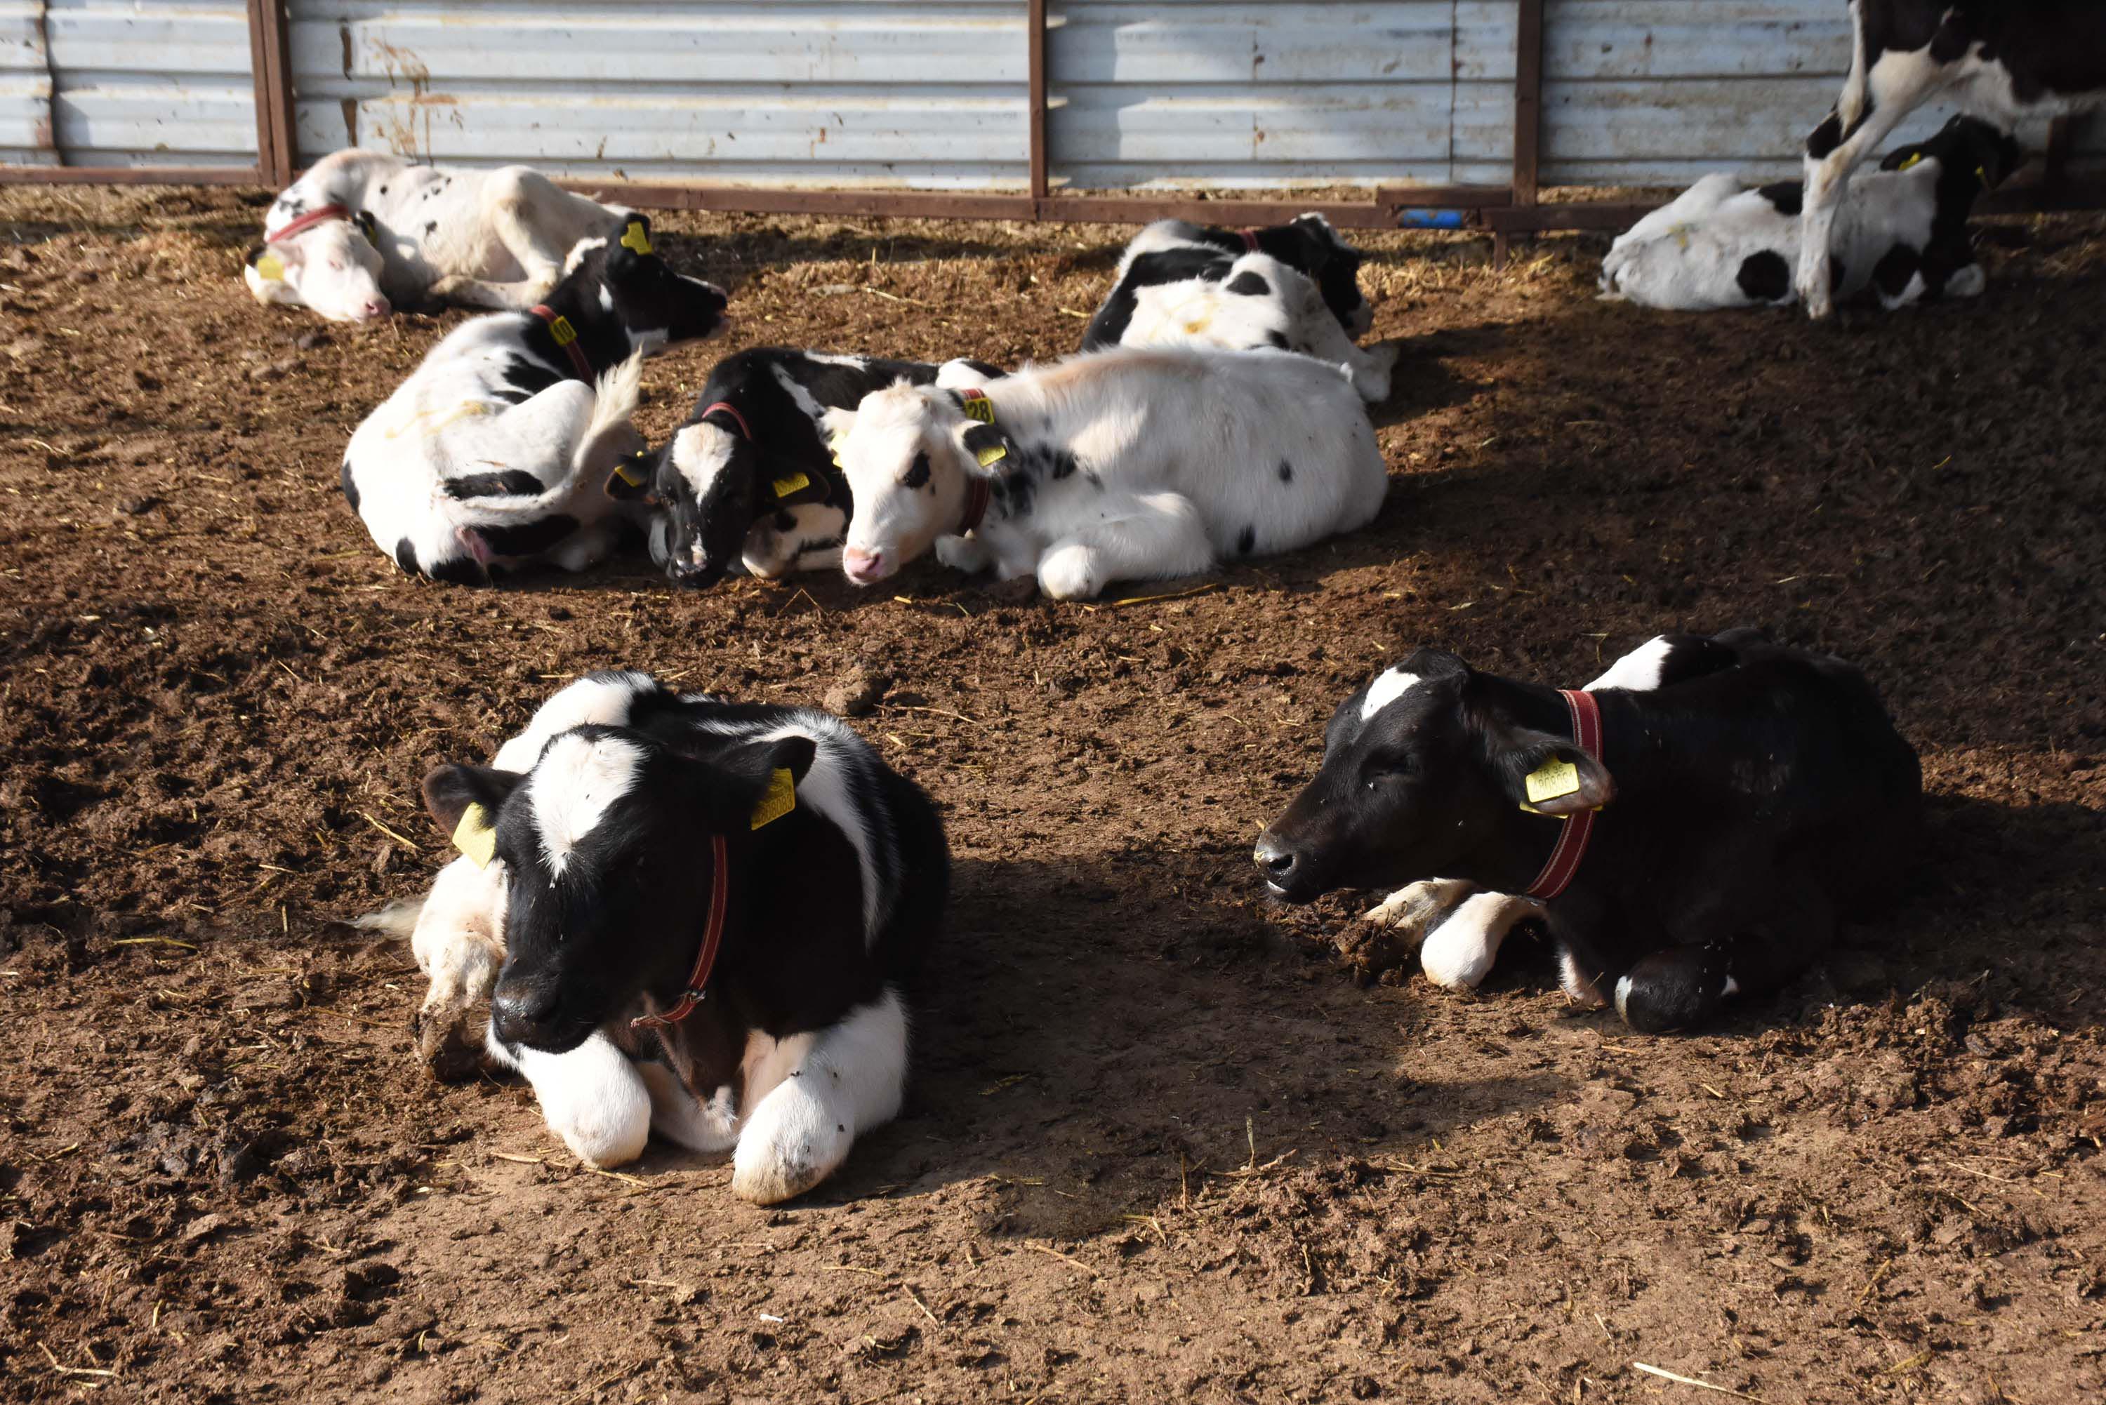
[[[746,1123],[731,1190],[773,1205],[804,1194],[855,1137],[899,1114],[908,1081],[908,1011],[887,986],[834,1026],[775,1041],[746,1066]]]

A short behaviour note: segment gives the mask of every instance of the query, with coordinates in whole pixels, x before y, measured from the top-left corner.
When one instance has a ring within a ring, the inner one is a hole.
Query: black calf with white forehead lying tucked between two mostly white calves
[[[853,503],[826,411],[853,411],[895,381],[962,388],[998,375],[975,360],[752,348],[716,362],[672,442],[617,470],[607,491],[651,508],[651,558],[682,586],[714,586],[739,565],[767,577],[832,571]]]

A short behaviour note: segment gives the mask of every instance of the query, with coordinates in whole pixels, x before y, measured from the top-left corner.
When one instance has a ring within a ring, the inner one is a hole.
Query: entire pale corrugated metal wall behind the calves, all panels
[[[1021,190],[1021,0],[291,0],[303,160]],[[1051,0],[1059,187],[1504,185],[1514,0]],[[1796,171],[1843,0],[1548,0],[1542,181]],[[0,160],[255,160],[246,6],[0,0]],[[1914,137],[1944,120],[1921,114]],[[2106,124],[2079,143],[2106,150]],[[2041,139],[2041,128],[2028,133]]]

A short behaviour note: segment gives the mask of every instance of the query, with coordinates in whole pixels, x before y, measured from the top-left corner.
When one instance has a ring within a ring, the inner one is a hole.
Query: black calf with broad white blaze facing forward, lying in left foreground
[[[950,849],[838,718],[592,674],[423,794],[461,857],[369,925],[413,931],[428,1051],[491,994],[491,1057],[585,1163],[657,1131],[773,1203],[899,1112]]]

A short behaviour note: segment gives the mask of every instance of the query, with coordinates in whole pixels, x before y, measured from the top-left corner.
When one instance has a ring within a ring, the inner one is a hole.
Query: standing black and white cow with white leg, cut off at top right
[[[1851,0],[1851,63],[1834,112],[1807,137],[1799,297],[1832,310],[1832,225],[1849,173],[1931,101],[2011,131],[2032,114],[2106,101],[2106,6],[2087,0]]]

